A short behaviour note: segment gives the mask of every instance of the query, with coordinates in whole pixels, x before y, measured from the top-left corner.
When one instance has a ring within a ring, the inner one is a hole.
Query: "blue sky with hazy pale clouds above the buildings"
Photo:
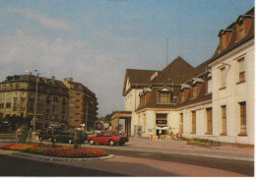
[[[196,67],[214,54],[219,31],[253,6],[254,0],[2,0],[0,82],[34,69],[60,81],[72,77],[96,93],[101,117],[124,109],[126,69],[162,70],[177,56]]]

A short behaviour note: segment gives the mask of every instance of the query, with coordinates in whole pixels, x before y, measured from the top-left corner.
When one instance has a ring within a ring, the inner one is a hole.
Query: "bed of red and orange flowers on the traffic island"
[[[41,155],[50,155],[57,157],[69,158],[85,158],[85,157],[100,157],[107,153],[96,148],[78,148],[57,146],[51,148],[50,145],[38,146],[38,144],[8,144],[0,146],[1,149],[18,150],[21,152],[29,152]]]

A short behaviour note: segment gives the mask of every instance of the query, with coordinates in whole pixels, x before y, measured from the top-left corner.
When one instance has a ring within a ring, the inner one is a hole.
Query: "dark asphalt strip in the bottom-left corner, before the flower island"
[[[125,176],[111,172],[0,154],[0,176]]]

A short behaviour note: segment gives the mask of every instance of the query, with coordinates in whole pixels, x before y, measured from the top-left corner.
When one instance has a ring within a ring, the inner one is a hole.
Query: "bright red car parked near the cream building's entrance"
[[[87,140],[90,145],[104,144],[110,146],[114,146],[115,144],[122,146],[129,142],[128,137],[122,136],[120,133],[112,131],[101,132],[96,134],[96,136],[89,136]]]

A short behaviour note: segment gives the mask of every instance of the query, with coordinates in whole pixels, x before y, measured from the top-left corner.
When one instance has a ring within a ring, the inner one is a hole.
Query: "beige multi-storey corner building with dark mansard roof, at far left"
[[[65,124],[68,116],[68,89],[61,81],[38,78],[36,128]],[[0,117],[33,118],[36,77],[9,76],[0,83]]]

